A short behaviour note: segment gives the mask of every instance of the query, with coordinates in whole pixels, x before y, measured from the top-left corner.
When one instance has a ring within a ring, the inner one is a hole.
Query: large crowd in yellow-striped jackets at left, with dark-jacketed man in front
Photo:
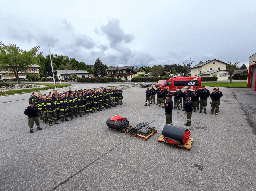
[[[29,99],[29,104],[24,114],[28,115],[30,133],[33,133],[33,125],[36,122],[37,129],[41,130],[39,124],[39,118],[44,121],[44,123],[49,123],[52,126],[52,122],[57,125],[59,117],[61,122],[69,121],[74,117],[78,117],[77,114],[82,117],[83,115],[89,115],[97,111],[102,111],[105,109],[110,109],[111,107],[116,107],[123,104],[123,90],[122,88],[116,87],[115,89],[84,89],[77,91],[63,91],[63,94],[59,92],[49,92],[49,95],[38,94],[38,97],[33,92]],[[94,112],[93,112],[94,110]],[[38,118],[39,116],[39,118]]]

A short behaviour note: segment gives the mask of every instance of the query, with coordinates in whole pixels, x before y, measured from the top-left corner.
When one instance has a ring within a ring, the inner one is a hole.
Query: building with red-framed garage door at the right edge
[[[253,88],[256,91],[256,53],[249,57],[249,70],[247,79],[247,88]]]

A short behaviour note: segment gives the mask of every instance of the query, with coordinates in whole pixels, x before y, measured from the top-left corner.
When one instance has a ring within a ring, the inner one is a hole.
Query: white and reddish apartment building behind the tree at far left
[[[39,74],[39,67],[40,66],[38,64],[32,64],[30,66],[28,72],[27,71],[20,71],[18,73],[19,79],[20,80],[26,79],[26,74],[28,74],[28,73],[30,73],[30,74],[34,73],[34,74],[40,76],[40,74]],[[6,80],[16,79],[15,74],[9,72],[9,68],[5,68],[5,69],[1,70],[0,72],[1,72],[1,76],[0,76],[1,79],[6,79]]]

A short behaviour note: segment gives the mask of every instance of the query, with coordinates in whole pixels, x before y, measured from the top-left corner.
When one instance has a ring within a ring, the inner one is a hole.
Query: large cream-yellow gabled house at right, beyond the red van
[[[199,64],[191,67],[191,77],[201,76],[202,74],[204,76],[217,76],[218,80],[228,80],[226,63],[217,59],[208,60],[206,62],[200,61]]]

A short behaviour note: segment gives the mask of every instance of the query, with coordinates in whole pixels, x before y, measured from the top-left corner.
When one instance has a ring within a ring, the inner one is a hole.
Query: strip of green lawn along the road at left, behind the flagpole
[[[43,85],[43,86],[47,86],[47,87],[44,87],[44,88],[30,88],[30,89],[22,89],[22,90],[17,90],[17,89],[13,90],[13,89],[11,89],[11,90],[5,90],[5,91],[8,95],[13,95],[13,94],[38,92],[38,91],[42,91],[42,90],[54,89],[54,84],[43,84],[43,83],[40,83],[40,84],[30,83],[30,84]],[[71,84],[57,84],[57,89],[67,87],[67,86],[71,86]],[[4,94],[4,95],[6,96],[6,94]]]

